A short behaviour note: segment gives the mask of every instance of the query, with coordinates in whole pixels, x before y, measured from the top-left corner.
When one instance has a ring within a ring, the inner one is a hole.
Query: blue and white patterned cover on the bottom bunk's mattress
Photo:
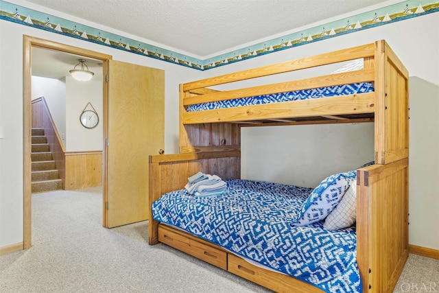
[[[313,189],[250,180],[226,183],[223,196],[169,192],[152,204],[152,217],[326,292],[361,292],[355,228],[291,225]]]

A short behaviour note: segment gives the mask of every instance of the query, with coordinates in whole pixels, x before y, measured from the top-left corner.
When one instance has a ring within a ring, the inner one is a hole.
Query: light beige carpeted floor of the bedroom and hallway
[[[434,290],[439,260],[410,255],[394,292]],[[102,189],[92,188],[32,196],[32,248],[0,257],[0,292],[270,291],[163,244],[149,246],[147,222],[103,228]]]

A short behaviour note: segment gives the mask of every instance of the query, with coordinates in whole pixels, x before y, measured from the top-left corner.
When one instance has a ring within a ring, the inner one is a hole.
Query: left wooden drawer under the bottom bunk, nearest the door
[[[158,241],[181,250],[188,255],[202,259],[208,263],[227,270],[227,253],[214,244],[207,244],[202,239],[198,240],[195,237],[175,229],[170,229],[167,226],[158,226]]]

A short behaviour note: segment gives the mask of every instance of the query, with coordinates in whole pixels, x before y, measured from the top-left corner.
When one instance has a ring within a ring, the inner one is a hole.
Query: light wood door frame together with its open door
[[[102,83],[105,140],[102,142],[102,226],[112,228],[147,220],[148,156],[161,152],[165,143],[165,71],[112,60],[112,56],[106,54],[31,36],[24,36],[23,47],[23,248],[32,246],[33,47],[102,61],[105,77]]]

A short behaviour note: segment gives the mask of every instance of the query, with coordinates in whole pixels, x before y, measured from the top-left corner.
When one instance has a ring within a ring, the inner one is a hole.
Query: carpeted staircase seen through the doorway
[[[44,129],[32,128],[32,194],[62,189]]]

